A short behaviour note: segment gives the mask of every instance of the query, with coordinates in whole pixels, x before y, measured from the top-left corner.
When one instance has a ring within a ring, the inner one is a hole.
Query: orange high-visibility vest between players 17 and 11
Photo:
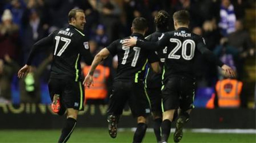
[[[84,75],[90,70],[90,66],[83,68]],[[85,99],[105,99],[108,96],[107,79],[110,76],[109,67],[99,64],[93,74],[93,86],[85,87]]]

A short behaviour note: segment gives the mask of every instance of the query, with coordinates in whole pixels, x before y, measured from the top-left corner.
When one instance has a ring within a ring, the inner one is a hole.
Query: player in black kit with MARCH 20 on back
[[[167,46],[166,60],[163,68],[163,143],[168,141],[171,122],[175,109],[180,108],[175,124],[174,141],[182,138],[183,125],[189,120],[189,114],[194,108],[195,76],[193,65],[195,56],[201,53],[209,62],[218,65],[227,76],[235,76],[233,70],[223,64],[207,49],[204,38],[189,31],[189,12],[180,10],[173,14],[175,31],[166,32],[157,42],[143,42],[140,39],[126,39],[124,46],[138,46],[142,49],[158,49]]]

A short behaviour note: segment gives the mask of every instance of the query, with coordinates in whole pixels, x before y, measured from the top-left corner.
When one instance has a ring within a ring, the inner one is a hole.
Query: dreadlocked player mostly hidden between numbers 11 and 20
[[[158,41],[161,39],[165,32],[168,31],[170,21],[170,15],[166,11],[158,11],[154,22],[156,24],[156,32],[150,34],[145,39],[148,41]],[[160,66],[163,67],[163,62],[165,61],[164,54],[166,54],[166,48],[157,50],[157,55],[160,58]],[[155,73],[152,71],[151,67],[146,70],[145,86],[151,103],[151,111],[153,115],[153,128],[157,139],[157,143],[161,140],[161,123],[162,123],[162,74]]]

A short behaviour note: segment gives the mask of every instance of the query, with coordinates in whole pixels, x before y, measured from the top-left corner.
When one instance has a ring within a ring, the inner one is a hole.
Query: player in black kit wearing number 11
[[[145,40],[144,34],[147,31],[145,18],[137,17],[132,22],[132,35],[136,39]],[[134,133],[133,143],[140,143],[145,136],[147,129],[146,117],[150,115],[150,103],[145,93],[143,84],[145,65],[151,63],[152,69],[159,73],[160,66],[158,57],[154,51],[145,50],[140,47],[122,46],[125,39],[118,39],[108,47],[102,49],[94,58],[91,69],[84,79],[84,84],[90,87],[93,80],[93,72],[97,65],[106,59],[110,54],[118,56],[117,74],[113,83],[112,95],[108,107],[109,134],[115,138],[117,134],[117,123],[122,115],[123,108],[128,102],[131,112],[137,118],[137,129]]]

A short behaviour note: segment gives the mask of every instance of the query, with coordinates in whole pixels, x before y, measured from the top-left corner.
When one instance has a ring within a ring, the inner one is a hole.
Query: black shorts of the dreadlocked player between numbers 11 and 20
[[[148,97],[150,99],[151,110],[152,112],[162,112],[162,95],[161,87],[156,88],[147,88]]]

